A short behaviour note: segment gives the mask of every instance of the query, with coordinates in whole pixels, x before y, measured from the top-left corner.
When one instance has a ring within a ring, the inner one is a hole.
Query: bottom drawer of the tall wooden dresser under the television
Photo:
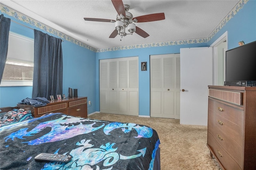
[[[225,170],[241,170],[238,163],[216,142],[212,134],[207,134],[207,146]]]

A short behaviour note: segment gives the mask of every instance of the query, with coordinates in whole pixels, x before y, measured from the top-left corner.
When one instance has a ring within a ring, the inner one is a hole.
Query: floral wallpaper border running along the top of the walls
[[[106,51],[118,51],[118,50],[124,50],[124,49],[136,49],[136,48],[148,48],[148,47],[163,47],[163,46],[170,46],[170,45],[184,45],[184,44],[192,44],[192,43],[207,43],[209,40],[211,40],[215,34],[220,31],[223,26],[226,25],[226,23],[233,18],[237,12],[244,7],[244,5],[249,0],[240,0],[238,4],[229,12],[229,14],[220,22],[220,24],[212,31],[212,33],[207,38],[198,38],[193,40],[175,40],[175,41],[168,41],[168,42],[156,42],[156,43],[144,43],[144,44],[137,44],[137,45],[126,45],[126,46],[119,46],[119,47],[109,47],[109,48],[101,48],[96,49],[94,47],[91,47],[90,45],[87,45],[86,43],[80,42],[70,36],[67,36],[66,34],[63,34],[62,32],[59,32],[57,30],[54,30],[53,28],[46,26],[45,24],[42,24],[33,18],[30,18],[28,16],[25,16],[24,14],[5,6],[4,4],[0,4],[1,8],[0,11],[2,13],[8,14],[9,16],[12,16],[16,18],[17,20],[26,22],[27,24],[30,24],[31,26],[35,26],[36,28],[40,28],[41,30],[44,30],[50,34],[53,34],[55,36],[58,36],[62,38],[63,40],[75,43],[76,45],[79,45],[81,47],[84,47],[86,49],[89,49],[94,52],[106,52]]]

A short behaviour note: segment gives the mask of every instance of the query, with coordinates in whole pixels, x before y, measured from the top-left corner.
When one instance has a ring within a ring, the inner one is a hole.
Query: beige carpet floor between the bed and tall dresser
[[[161,170],[221,170],[206,146],[207,127],[180,125],[180,120],[95,113],[88,118],[146,125],[160,138]]]

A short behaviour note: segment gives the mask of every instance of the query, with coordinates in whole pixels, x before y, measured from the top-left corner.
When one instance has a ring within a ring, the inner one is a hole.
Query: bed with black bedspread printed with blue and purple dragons
[[[157,132],[134,123],[47,113],[1,127],[0,144],[1,170],[160,170]],[[73,158],[35,161],[42,152]]]

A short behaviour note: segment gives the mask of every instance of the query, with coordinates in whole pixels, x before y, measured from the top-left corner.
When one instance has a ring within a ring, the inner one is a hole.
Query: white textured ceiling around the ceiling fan
[[[116,20],[111,0],[1,0],[14,10],[96,49],[207,38],[239,0],[123,0],[134,17],[164,12],[165,20],[136,23],[150,36],[109,38],[115,24],[85,21]],[[122,40],[122,41],[120,41]]]

